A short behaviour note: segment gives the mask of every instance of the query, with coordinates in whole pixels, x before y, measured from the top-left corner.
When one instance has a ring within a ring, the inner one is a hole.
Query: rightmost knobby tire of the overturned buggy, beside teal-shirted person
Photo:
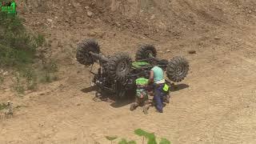
[[[167,77],[173,82],[181,82],[189,71],[189,63],[185,58],[174,57],[166,68]]]

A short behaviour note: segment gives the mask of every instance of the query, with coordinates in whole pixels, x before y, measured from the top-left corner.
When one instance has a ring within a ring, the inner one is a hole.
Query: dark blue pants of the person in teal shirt
[[[162,92],[162,88],[163,88],[164,84],[159,84],[156,85],[154,84],[154,102],[156,102],[156,108],[157,110],[162,113],[162,104],[163,104],[163,97],[164,94]]]

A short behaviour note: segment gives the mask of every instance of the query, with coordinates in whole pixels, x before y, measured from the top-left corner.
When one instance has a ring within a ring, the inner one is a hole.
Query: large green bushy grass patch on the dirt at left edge
[[[1,1],[0,1],[1,2]],[[46,56],[37,56],[38,48],[45,48],[42,34],[28,32],[22,18],[0,12],[0,69],[14,71],[13,89],[18,94],[36,90],[38,82],[53,82],[58,79],[57,62]],[[47,47],[48,48],[48,47]],[[42,65],[38,63],[42,61]],[[0,86],[3,78],[0,77]]]

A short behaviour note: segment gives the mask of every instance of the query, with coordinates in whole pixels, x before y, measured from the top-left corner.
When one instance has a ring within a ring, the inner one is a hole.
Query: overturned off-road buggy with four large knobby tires
[[[181,82],[186,77],[189,64],[185,58],[174,57],[168,62],[166,59],[158,59],[156,56],[157,51],[152,45],[140,46],[134,62],[125,53],[105,56],[100,52],[98,42],[94,39],[78,43],[76,54],[78,62],[82,65],[93,66],[94,62],[99,63],[98,73],[90,70],[90,73],[94,74],[92,83],[100,92],[110,91],[117,98],[124,97],[127,91],[135,92],[135,79],[148,78],[153,63],[154,66],[160,66],[166,70],[166,76],[172,82]]]

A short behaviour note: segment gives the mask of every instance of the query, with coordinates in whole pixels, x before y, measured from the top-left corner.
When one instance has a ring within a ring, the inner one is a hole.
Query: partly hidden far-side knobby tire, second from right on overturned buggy
[[[138,48],[135,60],[141,61],[148,59],[150,61],[150,57],[156,57],[157,56],[157,50],[155,50],[153,45],[142,45]]]

